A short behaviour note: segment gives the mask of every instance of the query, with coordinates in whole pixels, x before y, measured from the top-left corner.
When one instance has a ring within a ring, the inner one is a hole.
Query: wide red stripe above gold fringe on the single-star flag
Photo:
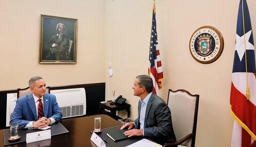
[[[256,134],[256,106],[251,101],[246,100],[246,96],[238,91],[233,82],[230,91],[230,104],[233,113]]]

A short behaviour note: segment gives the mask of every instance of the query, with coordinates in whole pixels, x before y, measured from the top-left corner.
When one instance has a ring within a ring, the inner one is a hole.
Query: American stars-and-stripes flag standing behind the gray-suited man
[[[163,80],[162,64],[160,60],[160,52],[158,49],[158,40],[156,32],[156,7],[153,7],[152,27],[149,47],[149,68],[148,75],[153,80],[153,93],[159,94],[159,89],[162,88],[161,81]]]

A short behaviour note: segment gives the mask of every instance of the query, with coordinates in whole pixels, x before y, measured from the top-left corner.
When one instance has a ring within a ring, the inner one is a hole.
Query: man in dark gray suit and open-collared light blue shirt
[[[162,98],[152,93],[152,89],[151,77],[136,77],[133,95],[141,98],[138,104],[138,118],[134,122],[125,123],[120,129],[128,127],[128,131],[124,133],[128,137],[145,136],[159,144],[175,142],[170,109]]]

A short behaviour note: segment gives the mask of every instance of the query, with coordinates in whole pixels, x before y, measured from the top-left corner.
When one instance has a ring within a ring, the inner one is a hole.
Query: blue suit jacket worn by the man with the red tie
[[[56,101],[55,95],[46,93],[44,95],[44,117],[52,117],[58,122],[62,119],[62,112]],[[31,121],[37,121],[36,104],[32,93],[17,99],[16,106],[10,123],[19,123],[19,127],[24,127]]]

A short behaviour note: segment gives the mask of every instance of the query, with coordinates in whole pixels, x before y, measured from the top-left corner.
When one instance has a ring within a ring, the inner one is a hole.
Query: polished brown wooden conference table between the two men
[[[32,142],[29,144],[21,142],[6,147],[96,147],[90,140],[90,131],[94,129],[94,117],[96,116],[101,117],[102,129],[122,125],[122,123],[117,122],[108,115],[92,115],[75,119],[66,119],[60,122],[65,126],[69,133],[52,136],[51,139],[44,141]],[[4,146],[3,130],[0,130],[0,147],[2,146]]]

